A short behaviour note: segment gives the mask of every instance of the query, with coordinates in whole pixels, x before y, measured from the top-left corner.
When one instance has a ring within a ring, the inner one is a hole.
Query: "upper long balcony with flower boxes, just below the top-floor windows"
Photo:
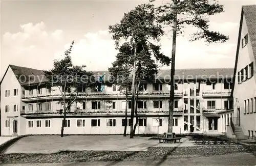
[[[69,97],[70,95],[67,94],[67,97]],[[140,92],[139,93],[140,97],[168,97],[169,93],[164,93],[164,92]],[[29,96],[22,96],[22,101],[31,101],[31,100],[53,100],[53,99],[58,99],[60,98],[61,95],[60,94],[44,94],[44,95],[29,95]],[[125,98],[124,94],[120,94],[120,93],[113,93],[113,92],[92,92],[92,93],[84,93],[84,92],[79,92],[78,93],[78,97],[77,99],[81,99],[81,98]],[[129,94],[128,97],[132,97],[131,94]],[[175,97],[182,97],[182,93],[181,92],[176,92],[175,93]]]

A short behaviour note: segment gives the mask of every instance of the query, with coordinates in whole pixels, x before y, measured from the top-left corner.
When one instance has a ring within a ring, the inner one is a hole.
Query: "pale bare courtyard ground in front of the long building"
[[[122,135],[34,135],[18,140],[5,153],[55,153],[61,150],[146,151],[148,147],[194,146],[186,138],[182,138],[180,144],[159,144],[159,140],[149,139],[150,137],[130,139],[129,136]]]

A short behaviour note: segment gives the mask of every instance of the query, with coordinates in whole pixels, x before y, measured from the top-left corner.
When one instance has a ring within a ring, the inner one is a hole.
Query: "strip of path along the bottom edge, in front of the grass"
[[[107,161],[107,162],[78,162],[78,163],[44,163],[44,164],[3,164],[3,165],[255,165],[256,158],[251,153],[216,155],[210,157],[168,158],[164,161]]]

